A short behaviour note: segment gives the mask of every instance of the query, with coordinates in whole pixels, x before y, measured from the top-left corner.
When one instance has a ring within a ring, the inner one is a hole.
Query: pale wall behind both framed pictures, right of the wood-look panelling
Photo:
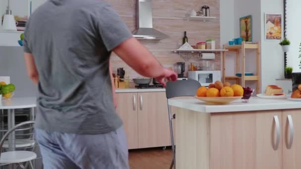
[[[231,6],[232,4],[234,4],[233,7]],[[261,91],[263,91],[268,84],[276,84],[276,79],[284,78],[284,56],[278,44],[279,41],[265,41],[264,39],[264,14],[266,12],[283,13],[283,0],[223,0],[220,8],[222,15],[221,28],[223,28],[223,30],[221,30],[221,42],[224,43],[228,42],[229,39],[231,40],[232,35],[239,37],[239,18],[252,15],[253,42],[261,42]],[[234,27],[231,25],[232,23],[234,23]],[[231,32],[231,28],[233,28],[233,33]],[[255,51],[248,50],[246,53],[247,72],[257,73],[254,56]],[[229,56],[227,58],[229,58],[229,60],[227,60],[226,66],[229,68],[226,69],[226,75],[233,75],[235,68],[232,68],[230,65],[233,65],[234,57]],[[246,85],[255,87],[254,82],[248,82]]]

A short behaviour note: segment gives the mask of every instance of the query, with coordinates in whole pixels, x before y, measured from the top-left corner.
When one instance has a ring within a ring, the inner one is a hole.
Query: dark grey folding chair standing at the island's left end
[[[201,87],[201,84],[195,80],[168,82],[166,84],[167,104],[168,104],[168,99],[170,98],[182,97],[182,96],[195,96],[199,87]],[[173,130],[172,130],[172,120],[175,119],[175,115],[171,116],[169,105],[167,105],[167,107],[168,107],[168,118],[169,118],[170,136],[171,136],[171,145],[172,145],[172,154],[173,154],[173,159],[170,165],[170,169],[172,169],[173,166],[176,169],[176,152],[175,152],[175,144],[174,144]]]

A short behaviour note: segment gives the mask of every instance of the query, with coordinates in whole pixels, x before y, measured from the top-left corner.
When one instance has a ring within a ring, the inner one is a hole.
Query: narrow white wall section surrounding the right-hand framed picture
[[[265,41],[264,14],[283,13],[283,0],[261,0],[261,86],[284,78],[284,53],[279,41]]]

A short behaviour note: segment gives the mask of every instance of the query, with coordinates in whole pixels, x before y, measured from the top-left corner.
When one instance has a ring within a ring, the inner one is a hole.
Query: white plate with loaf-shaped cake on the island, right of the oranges
[[[283,88],[278,85],[268,85],[265,88],[264,94],[257,94],[259,98],[265,99],[286,99],[286,95],[283,92]]]

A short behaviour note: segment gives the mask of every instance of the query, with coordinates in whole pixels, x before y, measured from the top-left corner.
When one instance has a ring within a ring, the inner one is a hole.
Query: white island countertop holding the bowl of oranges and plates
[[[249,103],[236,100],[227,105],[206,105],[194,97],[185,99],[169,99],[168,104],[200,113],[244,112],[263,110],[301,109],[301,102],[287,99],[262,99],[251,97]]]

